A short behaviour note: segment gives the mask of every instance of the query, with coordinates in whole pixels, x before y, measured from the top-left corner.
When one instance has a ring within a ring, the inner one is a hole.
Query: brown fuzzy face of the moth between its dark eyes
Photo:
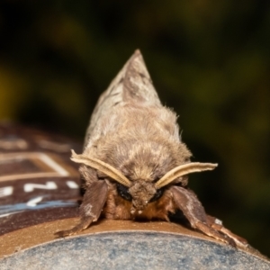
[[[157,189],[155,184],[145,181],[134,181],[130,186],[129,193],[132,196],[131,213],[144,210],[148,202],[153,198]]]

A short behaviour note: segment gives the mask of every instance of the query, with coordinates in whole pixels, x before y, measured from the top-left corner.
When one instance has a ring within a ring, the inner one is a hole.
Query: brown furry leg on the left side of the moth
[[[80,223],[73,229],[61,230],[55,233],[58,237],[75,234],[88,228],[92,222],[98,220],[107,199],[108,185],[104,180],[94,181],[87,187],[83,202],[80,206]]]

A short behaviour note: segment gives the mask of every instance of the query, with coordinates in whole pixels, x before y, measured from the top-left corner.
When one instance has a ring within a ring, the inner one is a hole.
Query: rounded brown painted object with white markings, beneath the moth
[[[0,125],[0,266],[4,269],[270,269],[256,250],[230,247],[169,222],[98,220],[68,238],[80,199],[72,140]]]

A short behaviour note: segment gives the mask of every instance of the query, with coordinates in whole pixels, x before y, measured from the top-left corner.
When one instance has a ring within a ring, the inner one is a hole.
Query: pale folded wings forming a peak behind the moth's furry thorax
[[[112,108],[114,110],[115,106],[123,106],[127,103],[130,105],[161,106],[139,49],[134,52],[112,80],[108,89],[100,96],[86,130],[85,147],[89,143],[93,130],[99,130],[98,124],[103,117],[110,117]]]

